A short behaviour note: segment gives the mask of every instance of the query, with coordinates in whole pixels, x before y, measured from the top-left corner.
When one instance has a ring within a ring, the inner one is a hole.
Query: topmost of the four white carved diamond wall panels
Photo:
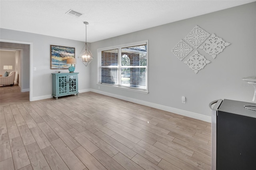
[[[198,48],[199,45],[201,45],[209,36],[210,34],[208,32],[198,26],[195,26],[184,40],[190,43],[194,48]]]

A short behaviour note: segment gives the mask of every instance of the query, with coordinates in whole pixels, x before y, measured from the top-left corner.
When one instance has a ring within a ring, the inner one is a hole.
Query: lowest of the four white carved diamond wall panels
[[[206,64],[211,61],[204,58],[203,55],[195,51],[195,53],[189,57],[187,61],[184,61],[185,64],[189,66],[190,69],[194,70],[195,73],[198,73],[200,69],[203,69]]]

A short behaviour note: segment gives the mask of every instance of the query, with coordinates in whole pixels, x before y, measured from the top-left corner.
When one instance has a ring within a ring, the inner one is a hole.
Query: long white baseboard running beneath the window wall
[[[95,93],[99,93],[99,94],[102,94],[102,95],[114,97],[114,98],[117,98],[117,99],[122,99],[122,100],[125,100],[125,101],[130,101],[130,102],[133,102],[133,103],[138,103],[140,105],[145,105],[145,106],[148,106],[148,107],[153,107],[153,108],[160,109],[160,110],[163,110],[163,111],[168,111],[168,112],[176,113],[178,115],[182,115],[182,116],[186,116],[186,117],[191,117],[191,118],[198,119],[198,120],[201,120],[201,121],[206,121],[206,122],[209,122],[209,123],[212,122],[212,118],[210,116],[201,115],[201,114],[193,113],[193,112],[190,112],[190,111],[184,111],[184,110],[181,110],[181,109],[176,109],[176,108],[168,107],[168,106],[164,106],[164,105],[158,105],[156,103],[150,103],[150,102],[147,102],[147,101],[133,99],[133,98],[125,97],[125,96],[121,96],[121,95],[115,95],[115,94],[107,93],[107,92],[100,91],[100,90],[90,89],[90,91],[95,92]]]

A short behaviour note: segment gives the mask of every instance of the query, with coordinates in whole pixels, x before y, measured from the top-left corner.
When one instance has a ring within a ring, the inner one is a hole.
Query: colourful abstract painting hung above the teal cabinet
[[[68,69],[67,58],[75,58],[75,48],[50,45],[51,69]]]

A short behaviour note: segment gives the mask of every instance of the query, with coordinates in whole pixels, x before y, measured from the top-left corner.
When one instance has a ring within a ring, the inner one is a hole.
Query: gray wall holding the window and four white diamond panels
[[[256,2],[173,22],[170,24],[133,32],[107,40],[91,43],[96,58],[97,49],[125,43],[148,40],[149,93],[142,94],[97,83],[97,62],[90,65],[92,89],[146,101],[166,107],[210,116],[208,104],[216,99],[251,101],[254,88],[245,86],[242,77],[256,75]],[[168,16],[166,16],[168,17]],[[197,74],[183,60],[175,57],[171,49],[195,27],[223,38],[231,43],[213,59],[202,49],[197,49],[211,63]],[[186,104],[181,97],[186,96]]]

